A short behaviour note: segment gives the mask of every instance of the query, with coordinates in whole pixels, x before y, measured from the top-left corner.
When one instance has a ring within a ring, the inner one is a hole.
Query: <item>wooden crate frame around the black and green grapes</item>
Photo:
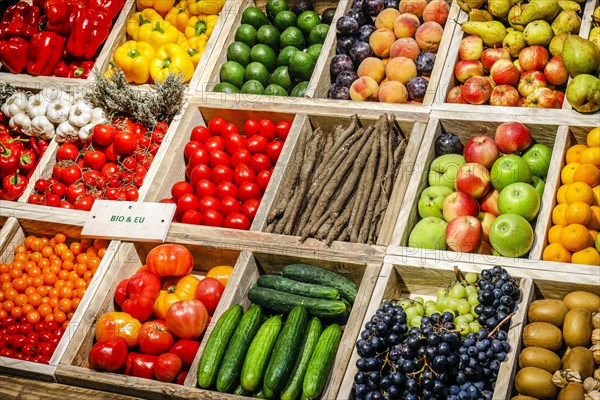
[[[492,265],[475,266],[464,263],[428,263],[424,266],[418,259],[398,256],[386,257],[360,330],[363,329],[364,325],[375,315],[375,311],[386,300],[398,299],[400,297],[413,298],[415,296],[424,297],[425,300],[428,300],[427,297],[435,299],[435,293],[440,287],[453,282],[455,267],[458,267],[462,273],[480,273],[482,269],[492,268]],[[510,268],[506,269],[511,275],[517,276]],[[494,400],[508,400],[510,398],[507,397],[506,388],[512,382],[511,371],[513,370],[513,364],[516,362],[516,354],[518,354],[516,347],[520,341],[523,321],[526,317],[526,308],[524,305],[528,303],[528,299],[533,294],[531,279],[522,278],[518,280],[522,296],[515,315],[511,319],[508,331],[508,340],[512,349],[508,354],[507,360],[500,367],[496,381],[496,390],[493,396]],[[354,376],[358,372],[356,368],[356,360],[358,358],[358,353],[352,348],[352,357],[344,374],[342,390],[338,394],[339,398],[347,399],[350,396]]]

